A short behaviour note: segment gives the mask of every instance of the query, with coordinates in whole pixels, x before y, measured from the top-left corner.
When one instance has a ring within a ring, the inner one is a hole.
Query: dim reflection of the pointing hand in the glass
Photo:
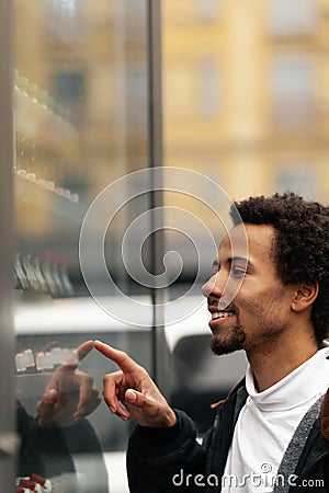
[[[92,341],[81,344],[76,349],[78,360],[81,362],[92,348]],[[92,413],[100,402],[100,391],[93,378],[80,371],[78,365],[64,363],[54,372],[37,403],[38,424],[43,427],[71,426],[80,417]]]

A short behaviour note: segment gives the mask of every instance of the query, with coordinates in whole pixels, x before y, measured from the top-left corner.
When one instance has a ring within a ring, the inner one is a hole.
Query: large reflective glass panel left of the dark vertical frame
[[[102,388],[115,366],[73,351],[90,339],[150,368],[150,289],[126,268],[150,265],[150,250],[127,241],[122,252],[149,208],[149,175],[127,179],[149,161],[146,19],[144,0],[15,1],[18,477],[41,474],[58,492],[128,491],[129,425],[93,402],[77,423],[54,404],[44,420],[38,401],[50,385],[71,417],[77,365]]]

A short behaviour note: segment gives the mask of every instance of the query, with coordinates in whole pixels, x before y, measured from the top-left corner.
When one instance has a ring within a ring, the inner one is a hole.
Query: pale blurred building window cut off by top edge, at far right
[[[315,0],[269,0],[268,4],[271,34],[300,35],[315,31]]]

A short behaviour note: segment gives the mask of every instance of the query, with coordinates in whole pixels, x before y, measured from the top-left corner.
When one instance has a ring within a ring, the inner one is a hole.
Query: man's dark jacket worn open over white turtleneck
[[[193,422],[181,411],[177,411],[178,422],[170,429],[136,426],[127,451],[131,492],[219,492],[235,424],[246,398],[242,385],[222,403],[203,445],[196,440]],[[297,432],[280,466],[279,473],[285,480],[273,491],[329,492],[329,390],[302,420]]]

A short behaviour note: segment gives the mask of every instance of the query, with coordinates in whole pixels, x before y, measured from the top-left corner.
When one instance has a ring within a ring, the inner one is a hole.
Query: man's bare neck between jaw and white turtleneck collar
[[[271,347],[263,346],[261,351],[247,351],[247,357],[252,368],[256,386],[259,392],[282,380],[298,366],[314,356],[317,351],[315,336],[309,332],[303,336],[288,339],[285,335],[271,342]]]

